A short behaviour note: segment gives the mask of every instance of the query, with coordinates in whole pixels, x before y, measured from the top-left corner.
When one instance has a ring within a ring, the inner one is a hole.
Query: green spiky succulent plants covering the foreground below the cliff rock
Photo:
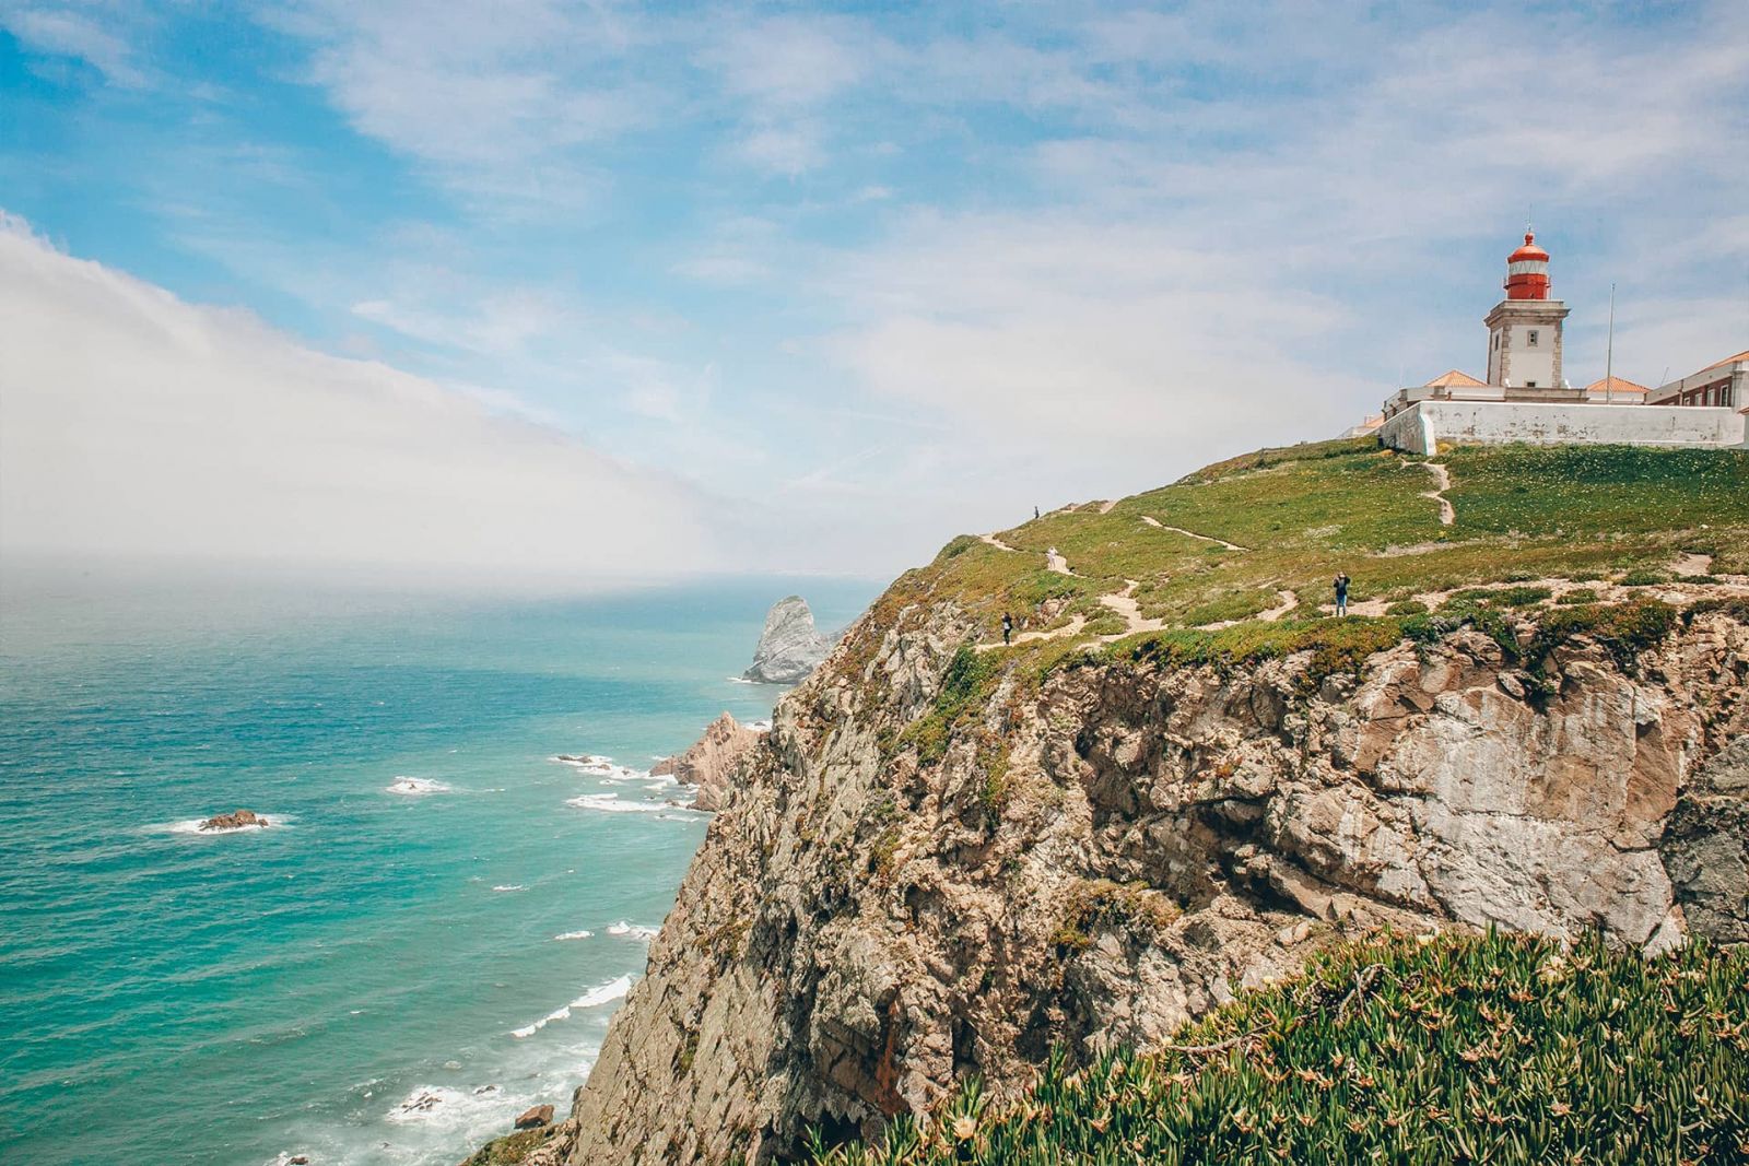
[[[1383,935],[1174,1045],[969,1082],[815,1166],[1725,1164],[1749,1159],[1749,951]]]

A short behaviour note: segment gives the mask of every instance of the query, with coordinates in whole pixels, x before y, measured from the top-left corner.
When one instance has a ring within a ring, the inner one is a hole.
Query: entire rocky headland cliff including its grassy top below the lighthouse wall
[[[1739,453],[1326,442],[955,538],[735,767],[542,1154],[874,1135],[1380,925],[1746,942],[1746,689]]]

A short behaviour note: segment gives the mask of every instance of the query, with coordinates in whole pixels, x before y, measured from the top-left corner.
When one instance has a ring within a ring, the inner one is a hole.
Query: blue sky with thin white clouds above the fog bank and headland
[[[663,530],[696,559],[652,568],[890,572],[1331,435],[1399,376],[1483,371],[1527,208],[1574,383],[1611,281],[1618,374],[1749,346],[1740,3],[0,0],[0,30],[19,302],[54,269],[28,248],[94,260],[215,336],[248,316],[227,344],[540,430],[689,512]],[[82,416],[142,392],[103,287],[63,287],[68,334],[119,346]],[[250,376],[231,348],[215,393]],[[14,432],[79,381],[52,360],[5,369]],[[203,400],[163,407],[198,432]]]

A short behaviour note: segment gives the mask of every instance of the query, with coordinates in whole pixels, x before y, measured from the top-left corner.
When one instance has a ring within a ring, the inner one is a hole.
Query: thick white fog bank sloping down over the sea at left
[[[0,545],[588,582],[714,566],[701,500],[0,220]]]

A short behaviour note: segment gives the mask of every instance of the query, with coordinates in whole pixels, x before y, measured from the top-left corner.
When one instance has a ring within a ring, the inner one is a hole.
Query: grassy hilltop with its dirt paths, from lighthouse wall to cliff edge
[[[1359,619],[1338,624],[1340,570]],[[1348,656],[1427,635],[1429,619],[1438,631],[1502,612],[1609,622],[1632,600],[1669,594],[1662,584],[1681,584],[1684,601],[1740,598],[1742,580],[1721,577],[1746,573],[1742,451],[1467,446],[1420,458],[1354,439],[1265,449],[1119,502],[962,535],[878,605],[894,615],[958,601],[979,619],[976,671],[988,675],[1095,649]],[[997,647],[1004,612],[1021,633],[1011,649]]]

